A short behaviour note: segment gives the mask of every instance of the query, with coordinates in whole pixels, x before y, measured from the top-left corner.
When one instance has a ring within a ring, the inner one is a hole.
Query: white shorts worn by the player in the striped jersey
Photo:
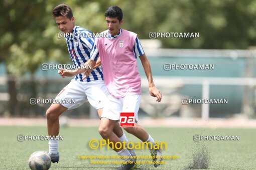
[[[81,106],[86,97],[89,103],[96,109],[103,108],[107,100],[107,87],[103,80],[94,80],[90,82],[82,82],[72,79],[56,96],[55,99],[75,100],[74,103],[60,103],[68,109]]]

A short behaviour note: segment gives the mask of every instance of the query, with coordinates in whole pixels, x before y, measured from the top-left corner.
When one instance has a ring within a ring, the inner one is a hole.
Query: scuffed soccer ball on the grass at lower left
[[[32,170],[47,170],[51,166],[51,157],[45,151],[35,151],[29,157],[29,167]]]

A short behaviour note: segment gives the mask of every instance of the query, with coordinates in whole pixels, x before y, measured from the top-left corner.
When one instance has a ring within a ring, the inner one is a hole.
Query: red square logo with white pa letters
[[[135,113],[134,112],[120,112],[120,127],[134,127]]]

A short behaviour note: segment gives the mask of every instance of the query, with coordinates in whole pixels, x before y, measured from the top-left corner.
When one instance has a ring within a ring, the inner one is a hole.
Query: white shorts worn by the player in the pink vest
[[[140,94],[128,93],[121,98],[115,98],[108,94],[107,99],[101,117],[106,117],[111,120],[119,120],[120,112],[134,112],[135,121],[138,122],[138,111],[141,102]]]

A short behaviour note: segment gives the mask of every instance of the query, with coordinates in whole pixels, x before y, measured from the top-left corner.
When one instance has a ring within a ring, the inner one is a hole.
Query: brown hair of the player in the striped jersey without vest
[[[73,17],[73,12],[69,5],[67,5],[66,3],[62,3],[53,8],[52,15],[54,17],[67,16],[69,19],[71,19]]]

